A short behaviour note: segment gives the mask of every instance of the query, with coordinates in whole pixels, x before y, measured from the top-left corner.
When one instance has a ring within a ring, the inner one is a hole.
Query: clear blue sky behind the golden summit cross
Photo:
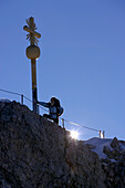
[[[54,95],[65,109],[64,118],[125,139],[125,1],[0,0],[0,88],[31,98],[23,31],[30,17],[42,34],[39,100],[48,102]],[[0,97],[20,100],[1,92]],[[79,130],[82,139],[98,136]]]

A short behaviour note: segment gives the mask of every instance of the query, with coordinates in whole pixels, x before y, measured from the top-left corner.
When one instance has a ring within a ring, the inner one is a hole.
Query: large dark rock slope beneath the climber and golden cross
[[[0,103],[0,188],[106,188],[110,165],[27,106]]]

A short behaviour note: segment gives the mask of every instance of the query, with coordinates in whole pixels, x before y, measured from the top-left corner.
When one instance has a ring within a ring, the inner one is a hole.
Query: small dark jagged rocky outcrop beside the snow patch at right
[[[104,147],[107,159],[102,159],[102,167],[106,175],[106,187],[125,188],[125,145],[115,137],[111,147]]]

